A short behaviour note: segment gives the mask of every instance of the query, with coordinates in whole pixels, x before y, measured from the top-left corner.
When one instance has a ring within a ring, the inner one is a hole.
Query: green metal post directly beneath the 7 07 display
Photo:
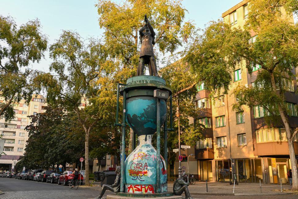
[[[156,192],[160,193],[160,99],[157,98],[156,106]]]

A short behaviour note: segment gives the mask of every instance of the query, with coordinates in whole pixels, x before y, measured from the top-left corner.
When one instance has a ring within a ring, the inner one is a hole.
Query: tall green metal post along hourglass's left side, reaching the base
[[[124,192],[124,158],[125,158],[125,127],[126,127],[126,91],[123,91],[123,117],[122,117],[122,141],[121,141],[121,177],[120,192]]]

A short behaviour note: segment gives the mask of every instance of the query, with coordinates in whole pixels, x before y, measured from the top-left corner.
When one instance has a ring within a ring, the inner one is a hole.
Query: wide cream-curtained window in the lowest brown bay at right
[[[256,130],[257,143],[272,141],[287,141],[284,128],[262,128]]]

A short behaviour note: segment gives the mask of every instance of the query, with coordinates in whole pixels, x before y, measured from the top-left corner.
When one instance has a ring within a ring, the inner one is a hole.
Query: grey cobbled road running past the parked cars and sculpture
[[[81,188],[69,189],[68,186],[45,183],[16,180],[14,178],[0,178],[0,189],[5,192],[0,195],[0,199],[60,199],[76,198],[91,199],[99,194],[99,190]],[[107,191],[106,194],[111,194]],[[106,195],[105,194],[105,195]],[[104,196],[105,196],[104,195]],[[193,195],[194,199],[297,199],[298,195],[276,195],[276,196],[202,196]]]

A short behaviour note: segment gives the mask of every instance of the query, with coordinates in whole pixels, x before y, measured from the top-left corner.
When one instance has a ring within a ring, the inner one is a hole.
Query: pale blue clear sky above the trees
[[[120,2],[120,0],[112,0]],[[0,0],[0,14],[12,16],[17,25],[38,18],[42,32],[48,35],[49,45],[59,38],[61,30],[76,30],[82,38],[101,37],[103,30],[98,25],[98,13],[94,0]],[[188,10],[187,20],[194,20],[197,27],[204,28],[210,20],[221,18],[221,14],[241,0],[184,0]],[[35,69],[48,71],[51,59],[33,64]]]

